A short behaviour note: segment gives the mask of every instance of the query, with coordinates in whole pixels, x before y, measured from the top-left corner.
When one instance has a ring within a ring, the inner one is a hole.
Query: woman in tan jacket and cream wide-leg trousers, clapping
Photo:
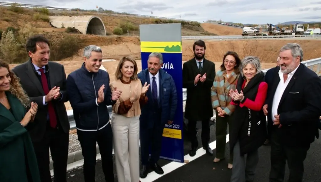
[[[115,161],[118,182],[139,180],[139,116],[140,106],[147,103],[147,82],[142,86],[137,77],[137,63],[131,57],[120,59],[111,91],[122,90],[113,105],[111,127],[113,130]]]

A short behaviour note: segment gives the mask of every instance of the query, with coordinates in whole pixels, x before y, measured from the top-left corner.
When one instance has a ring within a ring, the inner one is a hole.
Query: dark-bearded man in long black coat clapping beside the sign
[[[196,121],[202,121],[202,145],[206,153],[213,155],[210,141],[210,119],[213,116],[211,87],[215,78],[215,64],[204,58],[206,45],[202,40],[193,44],[195,57],[183,65],[183,88],[187,89],[185,118],[188,120],[188,135],[192,143],[190,156],[195,156],[198,141]]]

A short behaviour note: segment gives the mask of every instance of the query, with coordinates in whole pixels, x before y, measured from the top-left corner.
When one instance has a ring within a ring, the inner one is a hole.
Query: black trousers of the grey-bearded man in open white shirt
[[[283,182],[285,164],[288,162],[290,176],[288,182],[302,182],[304,160],[310,144],[306,147],[290,147],[280,143],[278,131],[271,132],[271,172],[270,182]]]

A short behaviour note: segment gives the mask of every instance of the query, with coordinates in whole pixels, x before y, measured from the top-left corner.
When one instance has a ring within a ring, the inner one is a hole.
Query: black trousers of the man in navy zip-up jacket
[[[96,141],[101,155],[105,180],[106,182],[113,182],[115,180],[113,166],[113,132],[110,123],[101,130],[77,130],[77,134],[84,159],[83,175],[85,182],[95,182]]]

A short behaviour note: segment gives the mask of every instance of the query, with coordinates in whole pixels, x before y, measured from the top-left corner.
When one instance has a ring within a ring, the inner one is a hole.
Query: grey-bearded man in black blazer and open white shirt
[[[286,44],[279,56],[280,67],[274,73],[267,107],[271,121],[270,182],[283,182],[286,161],[289,182],[301,182],[310,143],[319,137],[321,80],[301,64],[303,51],[299,44]]]

